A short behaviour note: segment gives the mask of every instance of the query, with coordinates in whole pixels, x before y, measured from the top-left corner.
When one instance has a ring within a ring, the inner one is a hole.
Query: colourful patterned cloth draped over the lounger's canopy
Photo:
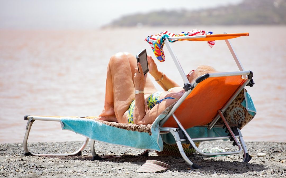
[[[147,38],[145,38],[145,41],[147,41],[150,44],[156,58],[160,62],[163,62],[163,61],[165,61],[165,55],[164,55],[164,50],[163,50],[164,39],[166,39],[168,37],[194,36],[194,35],[207,35],[207,34],[212,34],[212,32],[205,32],[204,30],[193,29],[192,31],[186,31],[186,32],[174,34],[174,33],[168,32],[168,31],[163,31],[161,33],[157,33],[157,34],[148,36]],[[169,40],[169,42],[176,42],[176,41],[180,41],[180,39],[179,40]],[[208,41],[208,45],[210,47],[214,46],[215,41]]]

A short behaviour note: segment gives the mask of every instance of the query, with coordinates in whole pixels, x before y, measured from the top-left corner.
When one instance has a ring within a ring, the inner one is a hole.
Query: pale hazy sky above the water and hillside
[[[238,4],[242,1],[0,0],[0,28],[94,29],[124,15],[134,13],[159,10],[194,10]]]

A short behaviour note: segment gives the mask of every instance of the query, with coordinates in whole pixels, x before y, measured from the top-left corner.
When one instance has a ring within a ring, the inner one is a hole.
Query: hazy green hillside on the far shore
[[[286,24],[285,0],[245,0],[238,5],[197,11],[154,11],[121,17],[110,26]]]

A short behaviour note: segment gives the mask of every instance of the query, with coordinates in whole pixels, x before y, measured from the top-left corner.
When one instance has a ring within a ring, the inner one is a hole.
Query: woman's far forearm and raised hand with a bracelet
[[[147,59],[149,73],[152,75],[152,77],[154,77],[154,79],[165,91],[173,87],[179,87],[179,85],[175,81],[167,77],[166,74],[163,75],[162,72],[158,71],[157,65],[155,64],[155,61],[152,59],[151,56],[147,56]]]

